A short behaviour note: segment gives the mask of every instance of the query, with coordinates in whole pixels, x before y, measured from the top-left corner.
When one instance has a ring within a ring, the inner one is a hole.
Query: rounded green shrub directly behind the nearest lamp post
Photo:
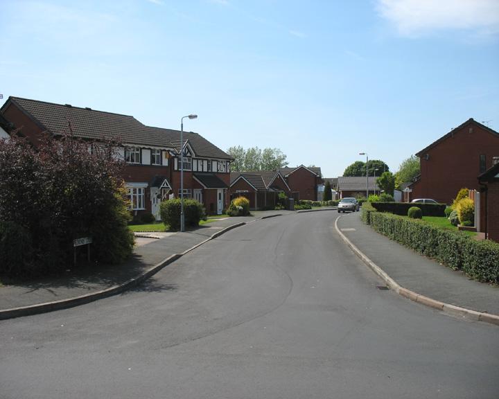
[[[167,199],[161,202],[159,212],[164,224],[172,230],[180,230],[180,211],[182,204],[179,198]],[[201,219],[206,218],[204,206],[195,199],[184,199],[184,223],[188,227],[196,227]]]

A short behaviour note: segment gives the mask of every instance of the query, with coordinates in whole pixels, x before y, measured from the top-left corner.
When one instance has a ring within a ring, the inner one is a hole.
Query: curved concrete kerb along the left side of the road
[[[192,251],[193,249],[200,247],[200,245],[203,245],[204,243],[208,242],[209,240],[213,240],[213,238],[217,238],[218,236],[221,236],[223,233],[226,233],[227,231],[229,231],[231,229],[235,229],[236,227],[243,226],[244,224],[246,224],[246,222],[232,224],[231,226],[226,227],[225,229],[217,231],[216,233],[213,233],[206,240],[204,240],[204,241],[200,242],[199,244],[194,245],[193,247],[182,252],[182,254],[173,254],[171,256],[168,256],[168,258],[161,260],[161,262],[150,267],[149,269],[146,270],[146,272],[144,272],[140,276],[135,277],[135,278],[130,278],[128,281],[125,281],[125,283],[122,283],[119,285],[114,285],[112,287],[106,288],[105,290],[91,292],[91,294],[75,296],[73,298],[62,299],[60,301],[37,303],[36,305],[28,305],[28,306],[21,306],[19,308],[0,310],[0,320],[14,319],[15,317],[30,316],[33,314],[53,312],[54,310],[73,308],[75,306],[84,305],[85,303],[97,301],[98,299],[107,298],[108,296],[120,294],[121,292],[129,290],[130,288],[139,285],[143,281],[146,281],[148,278],[150,278],[150,276],[153,276],[154,274],[159,272],[161,269],[163,269],[163,267],[165,267],[166,265],[169,265],[170,263],[173,263],[178,258],[181,258],[185,254],[187,254],[189,251]]]

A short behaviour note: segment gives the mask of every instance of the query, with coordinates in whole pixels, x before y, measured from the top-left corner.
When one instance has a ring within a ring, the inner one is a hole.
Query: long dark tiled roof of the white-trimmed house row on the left
[[[42,129],[55,135],[69,133],[70,124],[73,135],[82,139],[116,140],[125,144],[175,148],[177,151],[180,147],[180,130],[146,126],[133,116],[27,98],[9,97],[9,100]],[[184,140],[189,140],[198,157],[233,159],[198,133],[184,132]]]

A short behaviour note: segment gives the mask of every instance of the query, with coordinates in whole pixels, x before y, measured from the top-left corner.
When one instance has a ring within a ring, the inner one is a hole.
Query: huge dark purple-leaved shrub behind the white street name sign
[[[113,143],[95,145],[91,152],[89,145],[68,134],[44,136],[37,147],[17,136],[0,141],[0,220],[26,232],[33,260],[33,267],[19,263],[8,274],[67,268],[75,238],[93,239],[91,255],[98,262],[120,262],[132,253],[124,164],[112,157]]]

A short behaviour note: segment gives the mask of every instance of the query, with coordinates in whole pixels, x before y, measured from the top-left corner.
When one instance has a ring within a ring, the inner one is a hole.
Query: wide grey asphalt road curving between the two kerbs
[[[499,397],[499,328],[394,292],[335,212],[259,220],[137,289],[0,321],[0,398]]]

